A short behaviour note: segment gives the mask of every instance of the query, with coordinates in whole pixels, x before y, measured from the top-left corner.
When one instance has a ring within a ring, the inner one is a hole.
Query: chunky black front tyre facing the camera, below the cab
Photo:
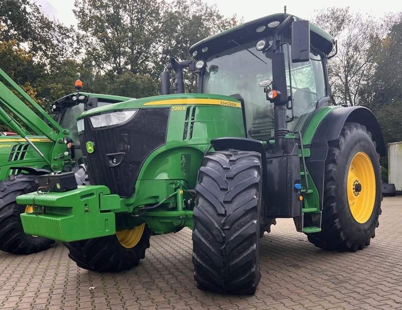
[[[199,289],[254,294],[261,211],[261,155],[228,150],[204,157],[199,171],[192,233]]]

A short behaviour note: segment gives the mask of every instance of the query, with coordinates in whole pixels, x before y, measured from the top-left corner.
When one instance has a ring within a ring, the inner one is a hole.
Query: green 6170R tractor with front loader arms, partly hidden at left
[[[50,172],[76,172],[78,184],[88,183],[76,117],[98,105],[130,99],[74,93],[52,104],[54,120],[0,69],[0,122],[17,134],[0,136],[1,251],[31,254],[55,242],[24,233],[19,214],[31,207],[17,205],[16,197],[36,191],[38,176]]]

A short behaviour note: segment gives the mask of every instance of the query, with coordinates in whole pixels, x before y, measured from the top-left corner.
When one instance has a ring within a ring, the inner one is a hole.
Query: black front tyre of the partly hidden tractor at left
[[[19,195],[38,190],[38,176],[33,174],[10,175],[0,181],[0,250],[13,254],[32,254],[47,250],[54,240],[24,233],[19,215],[27,206],[18,205]]]

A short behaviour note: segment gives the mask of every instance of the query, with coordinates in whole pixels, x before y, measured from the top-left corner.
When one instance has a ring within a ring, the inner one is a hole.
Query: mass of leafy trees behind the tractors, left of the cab
[[[77,78],[89,92],[158,94],[170,57],[189,59],[192,44],[238,23],[202,0],[76,0],[75,6],[78,33],[46,17],[34,0],[0,2],[1,68],[47,110],[74,91]],[[193,76],[185,77],[194,91]]]

